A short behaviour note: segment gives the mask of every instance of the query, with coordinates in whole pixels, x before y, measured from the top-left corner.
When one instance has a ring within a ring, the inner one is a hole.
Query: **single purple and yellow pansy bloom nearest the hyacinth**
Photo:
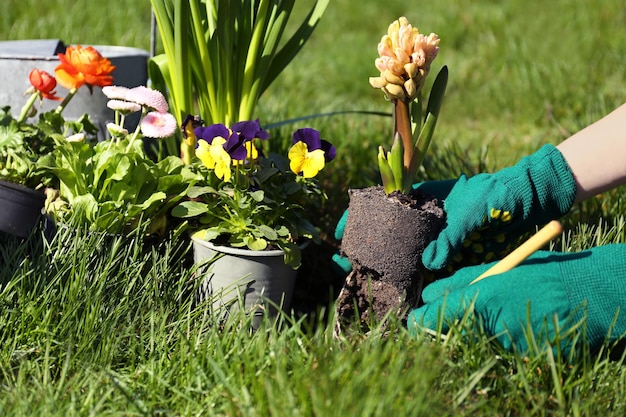
[[[289,168],[304,178],[313,178],[332,161],[337,149],[311,128],[298,129],[293,134],[293,146],[289,150]]]

